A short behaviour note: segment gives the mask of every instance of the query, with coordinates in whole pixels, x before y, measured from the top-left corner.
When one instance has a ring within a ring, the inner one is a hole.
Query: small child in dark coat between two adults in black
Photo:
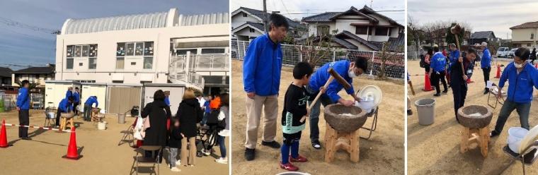
[[[181,169],[178,169],[176,165],[180,164],[180,159],[176,161],[178,156],[178,149],[181,148],[181,131],[179,128],[179,119],[174,117],[171,120],[172,126],[170,127],[170,138],[168,138],[168,147],[170,147],[170,154],[168,157],[168,162],[170,162],[170,170],[179,172]]]

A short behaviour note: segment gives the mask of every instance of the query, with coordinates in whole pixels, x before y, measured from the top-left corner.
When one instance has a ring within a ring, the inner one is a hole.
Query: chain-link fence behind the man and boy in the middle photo
[[[231,41],[231,59],[244,60],[248,44],[246,41]],[[305,53],[301,50],[307,49],[306,46],[282,44],[282,64],[284,66],[294,66],[300,61],[303,61]],[[393,58],[385,61],[385,76],[387,78],[403,80],[405,73],[405,59],[403,53],[387,53]],[[332,61],[340,61],[343,59],[353,60],[358,56],[369,59],[368,70],[365,74],[377,76],[382,70],[382,52],[375,51],[360,51],[354,49],[337,49],[332,53],[328,53],[323,59],[319,60],[317,66],[322,66]]]

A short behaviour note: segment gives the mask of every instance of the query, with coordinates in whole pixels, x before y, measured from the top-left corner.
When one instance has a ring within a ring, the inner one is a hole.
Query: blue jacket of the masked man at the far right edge
[[[525,68],[517,74],[514,62],[508,64],[500,76],[499,87],[504,87],[508,79],[508,97],[517,103],[527,103],[532,101],[532,87],[538,89],[538,71],[531,64],[525,64]]]

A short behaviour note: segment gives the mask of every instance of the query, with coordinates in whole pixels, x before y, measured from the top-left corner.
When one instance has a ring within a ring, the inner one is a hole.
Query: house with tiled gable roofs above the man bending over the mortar
[[[403,25],[367,6],[307,16],[302,22],[308,23],[309,36],[332,35],[338,30],[332,41],[345,49],[379,51],[382,42],[391,42],[391,49],[405,43]]]

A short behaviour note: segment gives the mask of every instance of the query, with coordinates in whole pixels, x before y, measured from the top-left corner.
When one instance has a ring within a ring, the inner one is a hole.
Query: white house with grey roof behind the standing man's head
[[[263,20],[265,18],[268,19],[269,16],[270,13],[252,8],[240,7],[231,13],[231,35],[236,37],[239,41],[253,40],[266,32]],[[297,23],[290,18],[286,19],[287,23],[290,24],[287,34],[295,39],[302,38],[304,36],[304,32],[302,31],[305,30],[304,25],[301,25],[301,23]]]

